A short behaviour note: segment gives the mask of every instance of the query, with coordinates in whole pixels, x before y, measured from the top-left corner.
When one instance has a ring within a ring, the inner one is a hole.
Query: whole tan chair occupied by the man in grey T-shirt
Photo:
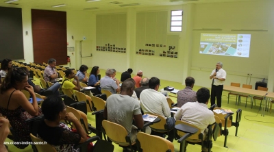
[[[108,140],[109,142],[112,141],[116,144],[119,144],[119,146],[121,147],[129,146],[130,149],[134,151],[132,145],[134,145],[136,142],[133,142],[133,143],[131,142],[130,136],[129,134],[127,134],[127,130],[125,129],[125,127],[116,123],[112,123],[110,121],[106,121],[106,120],[103,120],[102,125],[103,125],[102,127],[103,138],[105,140],[107,140],[107,138],[105,138],[105,135],[107,135],[108,138],[110,139]]]

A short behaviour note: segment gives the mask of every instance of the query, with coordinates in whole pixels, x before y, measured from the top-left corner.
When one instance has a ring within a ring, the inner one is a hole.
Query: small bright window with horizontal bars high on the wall
[[[171,11],[171,31],[182,31],[183,10]]]

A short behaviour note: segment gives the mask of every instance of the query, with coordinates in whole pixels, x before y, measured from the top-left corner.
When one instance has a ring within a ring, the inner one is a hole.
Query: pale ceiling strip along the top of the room
[[[177,1],[177,2],[171,2]],[[232,1],[263,1],[263,0],[101,0],[86,2],[86,0],[19,0],[10,4],[0,0],[0,6],[12,8],[33,8],[41,10],[84,10],[86,11],[101,11],[101,10],[118,10],[124,8],[144,8],[163,5],[182,5],[185,3],[220,3]],[[52,8],[51,5],[66,4],[59,8]],[[119,3],[119,4],[116,4]],[[121,7],[120,5],[139,3],[140,5],[132,5]],[[94,9],[96,8],[96,9]],[[94,10],[93,10],[94,9]]]

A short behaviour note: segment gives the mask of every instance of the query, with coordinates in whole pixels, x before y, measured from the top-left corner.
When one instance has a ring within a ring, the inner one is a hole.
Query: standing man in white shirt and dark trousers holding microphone
[[[225,84],[226,76],[227,76],[227,73],[225,72],[225,70],[223,70],[223,63],[217,62],[216,69],[214,69],[210,75],[210,79],[212,79],[211,97],[210,97],[211,105],[215,104],[215,97],[216,97],[217,105],[218,107],[221,107],[223,84]]]

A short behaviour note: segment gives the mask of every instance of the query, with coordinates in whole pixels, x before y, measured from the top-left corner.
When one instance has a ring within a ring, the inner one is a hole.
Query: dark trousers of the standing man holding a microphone
[[[215,97],[216,97],[218,107],[222,106],[222,93],[223,93],[223,85],[211,86],[211,97],[210,97],[211,105],[215,104]]]

